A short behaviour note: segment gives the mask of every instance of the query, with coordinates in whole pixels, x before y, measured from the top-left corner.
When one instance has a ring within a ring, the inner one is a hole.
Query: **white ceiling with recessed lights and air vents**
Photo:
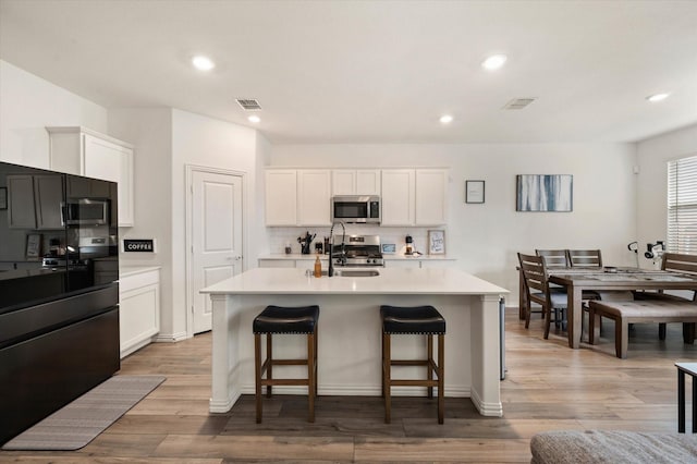
[[[506,65],[482,70],[494,52]],[[0,58],[107,108],[276,144],[635,142],[697,123],[697,1],[0,0]],[[521,97],[537,100],[502,109]]]

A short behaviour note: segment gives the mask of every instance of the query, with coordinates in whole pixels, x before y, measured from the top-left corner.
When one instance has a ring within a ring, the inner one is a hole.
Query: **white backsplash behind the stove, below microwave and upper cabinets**
[[[292,253],[301,253],[301,244],[297,239],[305,236],[306,232],[315,235],[310,249],[314,252],[315,243],[323,242],[323,237],[329,237],[330,228],[268,228],[269,253],[285,253],[285,245],[290,244]],[[427,254],[426,243],[428,241],[428,228],[378,228],[376,225],[346,224],[346,235],[380,235],[380,243],[395,244],[396,253],[404,253],[406,247],[406,235],[411,235],[414,243],[413,248]],[[341,234],[341,225],[334,227],[334,235]],[[448,249],[448,248],[445,248]]]

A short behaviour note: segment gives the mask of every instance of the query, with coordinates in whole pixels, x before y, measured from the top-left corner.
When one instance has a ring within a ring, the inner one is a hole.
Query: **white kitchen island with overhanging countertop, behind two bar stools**
[[[201,290],[212,301],[212,396],[210,412],[229,411],[242,393],[254,393],[253,319],[267,306],[319,305],[318,394],[380,395],[380,305],[432,305],[447,320],[445,396],[470,398],[480,414],[501,416],[499,300],[508,291],[456,269],[379,269],[376,277],[306,276],[304,269],[257,268]],[[279,357],[302,357],[306,340],[276,335]],[[394,358],[426,354],[421,337],[394,337]],[[303,377],[299,366],[278,377]],[[295,371],[293,371],[296,369]],[[409,369],[413,369],[409,373]],[[400,377],[421,368],[401,368]],[[278,393],[306,393],[277,387]],[[425,389],[393,389],[395,395]]]

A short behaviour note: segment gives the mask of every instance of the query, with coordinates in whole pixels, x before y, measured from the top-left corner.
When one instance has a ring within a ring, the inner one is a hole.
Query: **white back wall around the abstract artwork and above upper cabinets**
[[[516,252],[597,247],[608,264],[634,262],[626,249],[636,240],[634,164],[632,144],[277,145],[270,160],[272,167],[298,168],[449,167],[448,255],[461,269],[509,289],[512,306],[518,292]],[[516,174],[573,174],[573,212],[516,212]],[[464,203],[468,179],[486,181],[484,205]],[[305,229],[278,233],[298,236]],[[395,229],[374,233],[413,232]],[[278,240],[277,232],[270,234],[271,242]]]

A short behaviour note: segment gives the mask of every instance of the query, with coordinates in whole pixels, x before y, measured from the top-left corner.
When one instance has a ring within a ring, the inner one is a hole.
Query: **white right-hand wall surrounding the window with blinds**
[[[668,161],[697,156],[697,124],[637,144],[637,227],[640,251],[668,234]]]

